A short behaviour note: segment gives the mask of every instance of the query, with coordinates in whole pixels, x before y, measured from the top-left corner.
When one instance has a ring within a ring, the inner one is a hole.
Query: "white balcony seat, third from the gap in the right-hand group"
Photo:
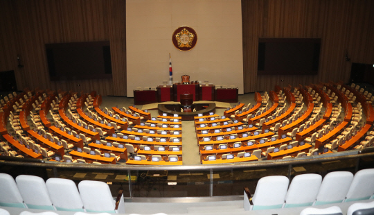
[[[348,193],[353,174],[348,171],[336,171],[328,173],[323,178],[314,205],[342,203]]]

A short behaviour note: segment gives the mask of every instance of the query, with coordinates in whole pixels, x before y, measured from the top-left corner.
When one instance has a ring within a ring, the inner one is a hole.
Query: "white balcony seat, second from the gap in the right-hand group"
[[[318,174],[296,175],[285,196],[285,207],[312,206],[321,182],[322,176]]]

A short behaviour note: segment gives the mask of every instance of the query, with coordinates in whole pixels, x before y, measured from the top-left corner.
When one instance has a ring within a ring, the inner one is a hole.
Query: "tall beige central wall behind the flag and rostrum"
[[[179,51],[172,33],[190,26],[197,33],[191,51]],[[136,87],[169,80],[169,53],[175,82],[190,80],[235,85],[243,94],[242,10],[240,0],[127,0],[127,96]]]

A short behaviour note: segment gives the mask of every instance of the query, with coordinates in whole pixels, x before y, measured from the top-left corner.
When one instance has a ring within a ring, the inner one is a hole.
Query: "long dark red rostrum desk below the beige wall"
[[[165,101],[180,101],[180,94],[193,94],[193,101],[238,102],[238,88],[217,88],[215,85],[160,85],[157,89],[134,89],[134,104],[145,105]]]

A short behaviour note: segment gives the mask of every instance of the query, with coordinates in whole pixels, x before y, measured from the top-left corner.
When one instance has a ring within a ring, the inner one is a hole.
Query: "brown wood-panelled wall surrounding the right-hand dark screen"
[[[348,82],[352,62],[374,64],[373,11],[370,0],[242,0],[244,92]],[[319,74],[257,76],[258,37],[321,38]]]

